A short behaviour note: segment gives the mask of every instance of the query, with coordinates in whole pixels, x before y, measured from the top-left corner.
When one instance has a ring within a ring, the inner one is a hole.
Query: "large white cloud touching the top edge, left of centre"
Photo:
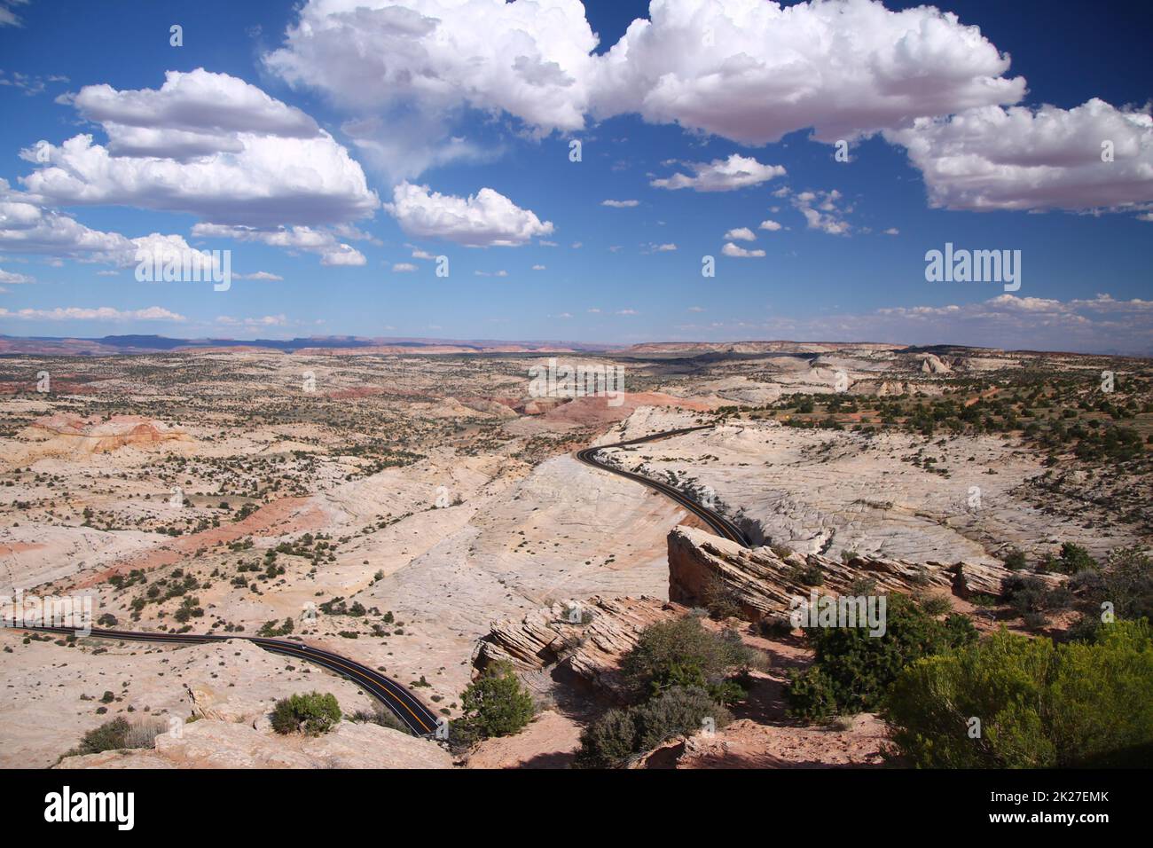
[[[264,62],[347,108],[467,105],[574,130],[596,44],[578,0],[309,0]]]

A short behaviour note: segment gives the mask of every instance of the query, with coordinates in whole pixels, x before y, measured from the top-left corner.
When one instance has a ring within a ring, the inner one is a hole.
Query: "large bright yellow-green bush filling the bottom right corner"
[[[981,720],[978,738],[969,719]],[[1153,750],[1148,623],[1054,645],[1002,630],[910,666],[886,718],[897,750],[926,767],[1137,765]]]

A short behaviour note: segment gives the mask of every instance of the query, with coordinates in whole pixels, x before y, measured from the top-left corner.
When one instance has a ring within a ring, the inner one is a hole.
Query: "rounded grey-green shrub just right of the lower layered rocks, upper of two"
[[[625,655],[621,671],[636,697],[660,695],[671,686],[700,686],[714,700],[731,703],[744,692],[729,675],[760,662],[758,652],[743,645],[736,631],[714,633],[689,615],[646,628]]]

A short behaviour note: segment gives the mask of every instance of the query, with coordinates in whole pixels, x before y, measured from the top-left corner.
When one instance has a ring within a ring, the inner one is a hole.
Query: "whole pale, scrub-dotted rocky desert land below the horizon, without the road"
[[[530,373],[550,360],[619,367],[623,391],[541,396]],[[723,516],[748,547],[574,456],[678,430],[598,461]],[[235,638],[5,628],[0,764],[913,765],[911,719],[838,693],[835,646],[792,625],[791,599],[887,596],[877,641],[915,624],[952,646],[1090,644],[1102,601],[1150,615],[1151,450],[1146,359],[790,342],[9,350],[0,594],[90,598],[96,628]],[[363,686],[251,636],[376,669],[444,731],[414,736]],[[699,648],[692,680],[660,666],[662,644]],[[528,699],[525,721],[478,722],[483,681]],[[670,690],[707,692],[704,715]],[[306,692],[334,696],[340,720],[279,731],[278,701]]]

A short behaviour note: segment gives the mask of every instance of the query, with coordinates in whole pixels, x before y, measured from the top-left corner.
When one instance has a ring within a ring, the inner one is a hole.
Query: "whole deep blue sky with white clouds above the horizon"
[[[1153,353],[1146,5],[751,3],[670,2],[625,54],[645,2],[0,2],[0,332]],[[232,287],[137,282],[151,233]],[[1020,250],[1020,288],[926,282],[945,242]]]

